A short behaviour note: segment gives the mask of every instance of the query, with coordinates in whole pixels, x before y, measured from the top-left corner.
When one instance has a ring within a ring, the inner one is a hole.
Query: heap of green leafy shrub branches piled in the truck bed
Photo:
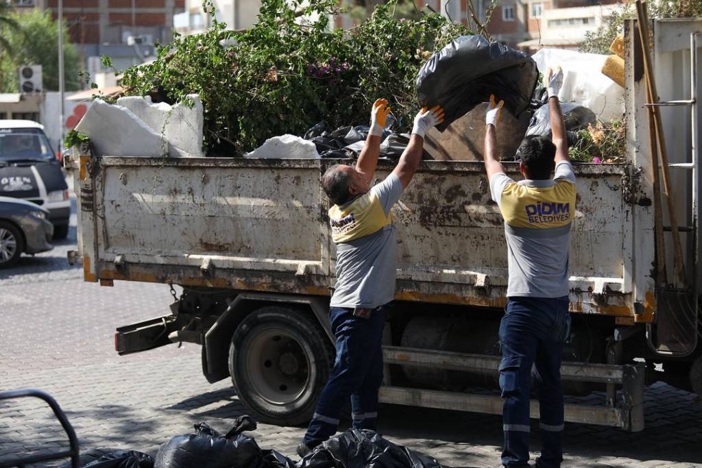
[[[158,46],[156,60],[128,69],[121,84],[127,95],[171,104],[199,94],[211,156],[241,155],[275,135],[303,135],[319,121],[329,128],[367,124],[380,97],[390,101],[395,130],[408,131],[420,67],[472,33],[438,13],[395,18],[395,1],[343,30],[331,25],[337,0],[263,0],[257,24],[235,32],[215,19],[206,0],[212,18],[206,32]]]

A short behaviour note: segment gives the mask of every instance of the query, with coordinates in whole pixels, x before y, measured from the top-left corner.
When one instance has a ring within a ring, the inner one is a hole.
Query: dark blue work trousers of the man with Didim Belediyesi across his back
[[[561,356],[570,333],[568,297],[509,297],[500,323],[505,467],[529,467],[529,385],[536,368],[541,408],[538,467],[559,467],[563,460]]]

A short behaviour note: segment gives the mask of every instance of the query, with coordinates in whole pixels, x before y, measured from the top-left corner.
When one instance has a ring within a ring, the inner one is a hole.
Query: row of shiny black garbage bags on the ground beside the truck
[[[256,422],[244,415],[220,434],[207,424],[195,432],[175,436],[159,448],[154,460],[133,450],[105,453],[84,468],[442,468],[432,457],[383,439],[376,432],[349,429],[322,443],[294,462],[276,450],[262,450],[252,437]],[[98,452],[105,450],[98,450]],[[83,460],[84,457],[81,457]],[[61,468],[69,468],[70,463]]]

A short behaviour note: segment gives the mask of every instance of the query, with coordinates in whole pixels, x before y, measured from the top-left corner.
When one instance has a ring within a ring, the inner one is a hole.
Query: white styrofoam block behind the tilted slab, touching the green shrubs
[[[164,134],[171,145],[191,156],[202,156],[203,107],[199,95],[188,95],[194,102],[192,107],[183,104],[154,104],[150,96],[127,96],[119,98],[117,105],[131,110],[154,132]]]

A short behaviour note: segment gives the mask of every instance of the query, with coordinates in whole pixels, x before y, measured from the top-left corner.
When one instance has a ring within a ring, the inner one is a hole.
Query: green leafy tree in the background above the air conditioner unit
[[[0,49],[11,51],[0,53],[0,92],[18,92],[17,70],[20,65],[41,65],[44,90],[58,91],[58,22],[51,18],[48,11],[41,12],[37,9],[27,13],[10,13],[4,15],[4,18],[16,27],[0,29]],[[0,24],[4,23],[0,20]],[[65,25],[63,27],[64,37],[67,38],[67,28]],[[73,44],[66,42],[63,55],[65,89],[78,91],[81,89],[78,51]]]

